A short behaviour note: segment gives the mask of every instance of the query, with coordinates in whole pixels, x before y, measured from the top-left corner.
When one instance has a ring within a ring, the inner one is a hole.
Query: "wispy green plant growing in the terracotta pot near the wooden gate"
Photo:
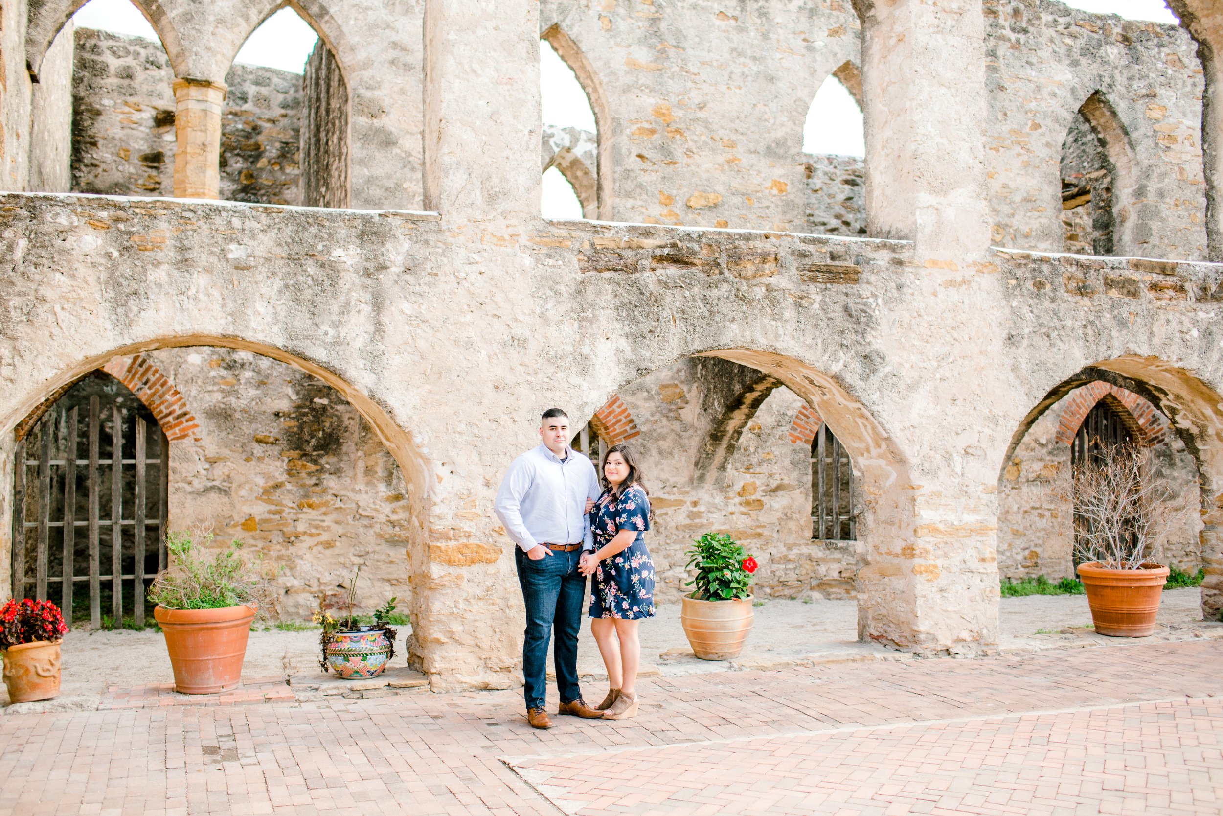
[[[203,536],[207,544],[212,533]],[[247,604],[265,613],[272,606],[272,579],[263,555],[242,554],[242,542],[209,553],[186,532],[165,537],[170,569],[160,573],[148,590],[148,598],[168,609],[221,609]]]

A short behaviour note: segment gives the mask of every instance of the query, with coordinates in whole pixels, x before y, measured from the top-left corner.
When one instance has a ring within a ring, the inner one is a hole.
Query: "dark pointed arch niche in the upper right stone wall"
[[[1134,147],[1117,111],[1096,92],[1062,143],[1062,228],[1065,252],[1129,254],[1132,241]]]

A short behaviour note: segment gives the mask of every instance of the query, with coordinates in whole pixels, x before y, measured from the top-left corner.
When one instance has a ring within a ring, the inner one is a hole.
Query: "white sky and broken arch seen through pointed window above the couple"
[[[553,26],[539,40],[539,93],[543,120],[543,172],[541,213],[544,218],[596,218],[599,215],[604,164],[604,146],[592,98],[578,73],[565,61],[554,44],[570,57],[581,57],[576,44]],[[589,73],[588,66],[582,66]],[[564,172],[553,172],[560,168]],[[553,180],[549,182],[549,172]],[[555,176],[564,176],[565,187]],[[574,201],[577,214],[572,215]]]

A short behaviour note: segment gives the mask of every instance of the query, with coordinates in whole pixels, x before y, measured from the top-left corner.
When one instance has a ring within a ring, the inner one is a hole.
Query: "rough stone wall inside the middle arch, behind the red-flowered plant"
[[[759,372],[723,360],[691,358],[620,390],[640,436],[638,454],[656,511],[647,537],[658,571],[657,599],[690,592],[684,554],[704,532],[725,532],[761,563],[758,597],[854,597],[856,542],[811,540],[811,449],[790,440],[806,405],[773,383],[758,407],[741,417],[734,453],[717,472],[701,475],[702,449],[724,442],[718,417]]]

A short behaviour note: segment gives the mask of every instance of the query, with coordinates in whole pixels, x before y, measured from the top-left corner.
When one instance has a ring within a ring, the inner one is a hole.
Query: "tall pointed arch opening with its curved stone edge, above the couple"
[[[582,206],[580,218],[612,219],[610,111],[594,70],[559,26],[539,35],[545,174],[541,212],[571,212],[569,193],[547,174],[559,169]]]

